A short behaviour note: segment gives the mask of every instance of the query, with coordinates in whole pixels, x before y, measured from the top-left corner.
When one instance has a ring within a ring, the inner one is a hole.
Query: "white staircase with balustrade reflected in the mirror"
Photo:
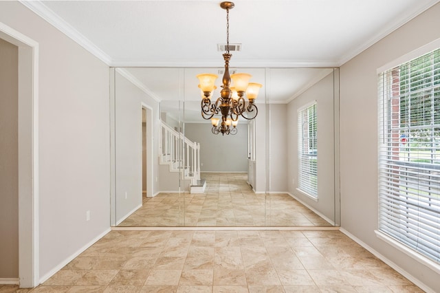
[[[200,144],[161,121],[160,164],[168,164],[170,172],[179,172],[181,180],[189,180],[190,193],[203,193],[206,181],[200,178]]]

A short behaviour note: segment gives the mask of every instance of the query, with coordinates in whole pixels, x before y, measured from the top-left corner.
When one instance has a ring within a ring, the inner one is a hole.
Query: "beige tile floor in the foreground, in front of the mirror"
[[[423,292],[338,230],[113,230],[33,290]]]

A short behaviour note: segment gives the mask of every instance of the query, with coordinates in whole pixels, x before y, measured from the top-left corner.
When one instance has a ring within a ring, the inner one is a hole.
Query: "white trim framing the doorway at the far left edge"
[[[39,280],[39,43],[0,22],[0,38],[19,47],[19,279]]]

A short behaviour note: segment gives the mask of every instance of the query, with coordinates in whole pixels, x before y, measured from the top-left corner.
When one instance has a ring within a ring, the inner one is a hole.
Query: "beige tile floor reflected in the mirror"
[[[256,194],[247,173],[202,173],[200,194],[159,193],[119,226],[330,226],[285,193]]]

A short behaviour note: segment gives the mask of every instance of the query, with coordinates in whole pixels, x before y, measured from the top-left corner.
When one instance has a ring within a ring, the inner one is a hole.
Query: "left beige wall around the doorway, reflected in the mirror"
[[[159,142],[159,103],[115,74],[115,221],[119,223],[142,205],[142,107],[151,108],[153,125],[146,124],[153,142]],[[147,120],[148,121],[148,120]],[[147,130],[148,131],[148,130]],[[151,152],[151,149],[148,150]],[[159,144],[153,145],[153,178],[159,177]],[[149,164],[149,163],[148,163]],[[148,171],[147,171],[148,172]],[[159,182],[152,180],[153,194]],[[147,186],[151,188],[151,186]],[[126,194],[126,197],[125,197]]]

